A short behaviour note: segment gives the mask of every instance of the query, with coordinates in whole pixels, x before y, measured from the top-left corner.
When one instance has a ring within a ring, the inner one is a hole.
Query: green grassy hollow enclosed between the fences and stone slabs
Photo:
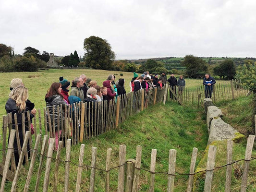
[[[202,113],[202,111],[200,112]],[[201,120],[198,111],[195,109],[183,108],[178,104],[167,103],[165,106],[160,104],[145,111],[134,115],[125,123],[121,124],[120,129],[113,130],[106,134],[93,138],[85,142],[85,165],[90,165],[91,147],[96,146],[97,151],[97,167],[104,169],[106,151],[108,147],[112,148],[112,165],[118,165],[118,150],[120,144],[125,144],[126,159],[135,158],[136,145],[142,146],[142,168],[150,169],[151,149],[157,149],[156,171],[168,172],[168,156],[170,149],[177,150],[176,171],[180,173],[188,173],[190,167],[190,159],[193,147],[199,149],[199,157],[206,148],[207,128],[204,120]],[[72,146],[71,161],[78,163],[80,146]],[[64,150],[61,159],[64,160]],[[37,169],[35,166],[35,169]],[[53,183],[53,167],[51,171],[49,191],[51,191]],[[26,170],[23,170],[24,173]],[[70,188],[75,188],[77,167],[71,164],[70,168]],[[18,183],[18,190],[24,186],[25,174],[21,174]],[[64,186],[64,163],[60,168],[60,184],[58,191],[63,191]],[[104,191],[104,172],[97,170],[96,190]],[[118,169],[110,172],[110,191],[116,191],[118,180]],[[44,173],[42,173],[42,177]],[[88,190],[90,169],[83,171],[83,184],[81,191]],[[32,183],[35,183],[36,177],[33,176]],[[43,180],[41,180],[43,182]],[[187,176],[177,176],[175,178],[176,191],[184,192],[186,189]],[[166,174],[156,175],[155,191],[166,191],[167,176]],[[32,184],[33,185],[33,184]],[[10,184],[7,184],[7,188]],[[149,187],[149,173],[142,170],[139,181],[140,191],[144,192]],[[7,189],[6,188],[6,189]],[[41,189],[39,190],[41,191]]]

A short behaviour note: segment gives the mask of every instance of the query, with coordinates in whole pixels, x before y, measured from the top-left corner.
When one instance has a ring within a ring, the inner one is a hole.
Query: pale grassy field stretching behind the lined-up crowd
[[[123,74],[121,76],[120,74]],[[65,79],[70,82],[74,77],[85,74],[87,78],[96,80],[99,86],[102,86],[102,82],[107,79],[110,74],[115,74],[116,81],[120,78],[125,79],[126,92],[130,92],[129,83],[133,78],[132,72],[116,72],[116,71],[104,71],[104,70],[91,70],[91,69],[49,69],[48,71],[39,70],[38,72],[6,72],[1,73],[0,81],[0,116],[6,114],[5,103],[10,93],[10,82],[13,78],[22,78],[23,83],[29,90],[29,99],[35,103],[35,108],[43,109],[46,105],[45,94],[53,82],[59,82],[60,76],[64,76]],[[179,75],[175,75],[177,78]],[[170,75],[167,76],[169,78]],[[200,86],[203,80],[185,79],[186,87],[196,88]],[[0,120],[2,122],[2,118]]]

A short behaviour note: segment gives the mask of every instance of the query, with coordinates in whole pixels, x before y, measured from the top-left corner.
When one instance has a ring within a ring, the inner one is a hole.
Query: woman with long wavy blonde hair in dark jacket
[[[22,113],[25,113],[25,132],[28,131],[28,119],[26,112],[29,111],[28,107],[26,107],[26,100],[28,99],[28,90],[24,86],[17,86],[12,89],[11,93],[9,94],[9,99],[7,100],[5,104],[6,113],[12,113],[12,129],[15,130],[15,121],[14,121],[14,114],[17,115],[17,122],[18,122],[18,132],[20,137],[20,144],[21,147],[23,146],[24,140],[23,140],[23,132],[22,132]],[[30,120],[32,121],[32,118],[34,118],[35,114],[37,112],[37,109],[32,109],[30,111]],[[9,143],[9,140],[8,140]],[[19,163],[19,153],[18,153],[18,143],[16,136],[14,137],[14,157],[15,157],[15,165],[18,166]],[[27,151],[29,151],[29,142],[27,144]],[[28,153],[28,156],[30,157],[30,153]],[[24,159],[25,160],[25,159]],[[23,164],[25,161],[23,161]]]

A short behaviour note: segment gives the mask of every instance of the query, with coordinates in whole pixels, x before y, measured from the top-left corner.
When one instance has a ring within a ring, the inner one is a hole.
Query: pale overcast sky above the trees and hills
[[[84,55],[106,39],[116,59],[256,57],[255,0],[0,0],[0,43],[22,54]]]

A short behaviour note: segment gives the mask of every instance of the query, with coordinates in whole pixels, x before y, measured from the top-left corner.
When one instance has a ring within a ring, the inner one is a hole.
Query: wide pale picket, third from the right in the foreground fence
[[[205,180],[205,187],[204,192],[211,191],[211,182],[213,178],[213,170],[215,165],[215,157],[216,157],[217,148],[214,145],[210,145],[208,149],[208,158],[207,158],[207,172],[206,172],[206,180]]]

